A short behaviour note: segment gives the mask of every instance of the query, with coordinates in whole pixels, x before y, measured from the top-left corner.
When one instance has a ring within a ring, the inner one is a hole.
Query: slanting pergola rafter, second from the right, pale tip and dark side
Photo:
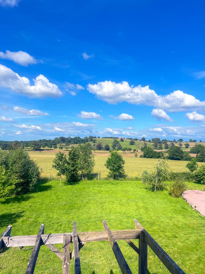
[[[104,230],[108,232],[108,241],[110,243],[110,246],[112,248],[112,251],[115,255],[115,258],[118,262],[118,265],[122,271],[123,274],[132,274],[130,267],[128,266],[122,251],[120,250],[120,247],[118,245],[118,243],[116,242],[115,238],[113,237],[113,234],[110,230],[110,228],[108,227],[108,224],[106,221],[103,221],[103,227]]]

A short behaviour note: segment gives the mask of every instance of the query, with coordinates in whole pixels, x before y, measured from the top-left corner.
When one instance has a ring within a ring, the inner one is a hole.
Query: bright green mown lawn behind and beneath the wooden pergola
[[[190,183],[190,188],[197,186]],[[0,231],[13,225],[11,235],[37,234],[41,223],[44,233],[70,232],[73,221],[78,231],[100,231],[103,219],[110,229],[133,229],[133,219],[138,219],[187,274],[204,273],[205,217],[182,198],[150,192],[141,182],[86,180],[61,188],[58,180],[41,182],[34,193],[0,199],[0,212]],[[126,242],[118,243],[132,273],[138,273],[138,255]],[[18,247],[0,253],[1,274],[24,273],[30,253]],[[108,242],[87,243],[80,259],[82,273],[120,273]],[[169,273],[150,249],[148,269],[152,274]],[[42,246],[35,273],[61,272],[62,261]]]

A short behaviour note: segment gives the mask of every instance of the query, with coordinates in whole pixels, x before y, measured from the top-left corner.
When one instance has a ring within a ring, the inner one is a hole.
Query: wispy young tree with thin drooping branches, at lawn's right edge
[[[142,181],[146,185],[146,188],[157,192],[157,190],[163,190],[166,188],[166,181],[169,179],[169,166],[167,159],[163,156],[158,160],[157,165],[154,167],[153,172],[144,174]]]

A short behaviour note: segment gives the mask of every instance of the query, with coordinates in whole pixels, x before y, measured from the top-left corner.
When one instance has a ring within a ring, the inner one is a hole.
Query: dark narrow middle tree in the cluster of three
[[[79,150],[72,147],[67,156],[67,164],[65,167],[66,182],[77,182],[79,180]]]

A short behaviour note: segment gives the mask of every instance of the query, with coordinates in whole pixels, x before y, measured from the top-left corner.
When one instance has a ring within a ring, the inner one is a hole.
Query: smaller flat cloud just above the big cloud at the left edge
[[[34,65],[38,61],[25,51],[6,51],[3,53],[0,51],[0,58],[12,60],[15,63],[27,67],[28,65]]]

